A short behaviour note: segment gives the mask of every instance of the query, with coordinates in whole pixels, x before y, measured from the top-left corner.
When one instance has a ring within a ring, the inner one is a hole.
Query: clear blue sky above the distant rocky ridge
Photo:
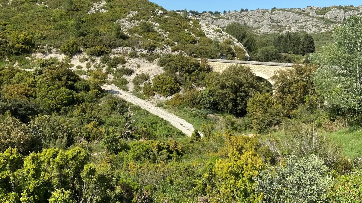
[[[331,5],[361,5],[361,0],[150,0],[167,10],[196,10],[220,11],[240,10],[241,8],[253,9],[271,9],[277,8],[306,8],[308,5],[325,7]]]

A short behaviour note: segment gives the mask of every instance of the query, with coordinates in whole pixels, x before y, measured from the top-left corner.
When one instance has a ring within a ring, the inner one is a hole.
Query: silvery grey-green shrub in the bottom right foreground
[[[255,190],[268,202],[329,202],[327,191],[332,182],[328,167],[316,156],[302,159],[291,156],[283,164],[267,165],[254,180]]]

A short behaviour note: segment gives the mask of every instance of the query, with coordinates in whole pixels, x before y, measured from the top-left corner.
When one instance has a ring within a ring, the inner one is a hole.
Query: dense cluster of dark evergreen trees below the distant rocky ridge
[[[294,54],[306,55],[315,51],[314,39],[311,35],[306,34],[300,38],[298,33],[287,33],[275,37],[273,46],[281,53],[293,52]]]

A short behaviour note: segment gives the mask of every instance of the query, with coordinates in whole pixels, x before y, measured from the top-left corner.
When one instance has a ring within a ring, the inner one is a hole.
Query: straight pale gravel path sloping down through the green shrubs
[[[139,105],[141,108],[146,109],[150,113],[163,118],[168,121],[175,128],[181,130],[187,136],[191,136],[192,132],[195,130],[194,126],[186,122],[184,119],[179,118],[171,113],[168,113],[164,109],[155,107],[152,103],[147,102],[146,100],[139,99],[138,97],[129,94],[126,91],[120,90],[115,85],[104,85],[102,87],[104,90],[109,91],[110,93],[119,96],[120,98],[126,100],[135,105]],[[202,136],[202,134],[200,134]]]

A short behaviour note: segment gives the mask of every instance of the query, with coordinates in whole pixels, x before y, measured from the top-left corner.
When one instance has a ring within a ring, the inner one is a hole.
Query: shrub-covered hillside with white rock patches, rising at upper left
[[[231,39],[232,47],[243,49],[232,36],[217,33],[217,27],[147,0],[2,0],[0,4],[0,54],[6,56],[54,48],[65,54],[86,51],[100,56],[125,47],[165,54],[177,46],[175,53],[187,49],[188,55],[216,57],[219,53],[210,56],[204,50],[214,38],[218,43]]]

